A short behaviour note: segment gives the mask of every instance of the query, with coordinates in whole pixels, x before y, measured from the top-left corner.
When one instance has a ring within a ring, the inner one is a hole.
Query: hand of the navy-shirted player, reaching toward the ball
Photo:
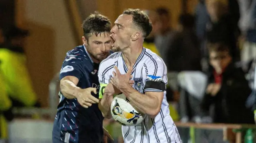
[[[86,89],[81,89],[78,91],[77,94],[77,101],[78,103],[83,106],[84,108],[88,108],[92,106],[94,103],[99,103],[99,100],[92,96],[92,93],[97,94],[97,89],[96,88],[86,88]]]

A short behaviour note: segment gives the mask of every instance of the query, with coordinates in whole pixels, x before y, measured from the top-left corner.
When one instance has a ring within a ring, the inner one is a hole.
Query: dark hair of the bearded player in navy
[[[90,34],[98,34],[102,32],[110,32],[111,30],[111,22],[108,17],[101,15],[98,12],[91,14],[84,20],[83,22],[83,31],[84,37],[88,39]]]

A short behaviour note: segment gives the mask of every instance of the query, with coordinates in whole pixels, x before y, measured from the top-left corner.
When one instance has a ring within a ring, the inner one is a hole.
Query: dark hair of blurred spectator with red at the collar
[[[207,43],[207,48],[210,52],[228,52],[230,54],[230,48],[224,43]]]

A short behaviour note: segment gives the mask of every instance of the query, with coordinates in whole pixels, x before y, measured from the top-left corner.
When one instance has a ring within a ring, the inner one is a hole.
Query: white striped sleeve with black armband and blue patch
[[[146,84],[144,92],[163,92],[167,84],[167,68],[162,59],[153,59],[146,64]]]

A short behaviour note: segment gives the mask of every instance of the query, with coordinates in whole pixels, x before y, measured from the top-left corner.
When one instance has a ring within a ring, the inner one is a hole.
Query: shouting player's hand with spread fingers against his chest
[[[110,79],[110,82],[116,86],[118,89],[124,89],[127,85],[133,84],[134,81],[130,80],[132,73],[132,66],[130,66],[129,70],[126,74],[121,74],[118,68],[114,67],[115,71],[113,71],[113,77]]]

